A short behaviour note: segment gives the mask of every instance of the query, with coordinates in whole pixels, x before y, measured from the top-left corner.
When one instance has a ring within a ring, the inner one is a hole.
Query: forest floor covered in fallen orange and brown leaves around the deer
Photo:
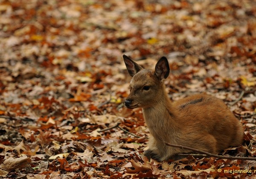
[[[0,178],[256,176],[253,160],[142,155],[123,54],[148,69],[166,56],[174,101],[222,99],[245,132],[220,155],[256,157],[256,2],[166,2],[0,0]]]

